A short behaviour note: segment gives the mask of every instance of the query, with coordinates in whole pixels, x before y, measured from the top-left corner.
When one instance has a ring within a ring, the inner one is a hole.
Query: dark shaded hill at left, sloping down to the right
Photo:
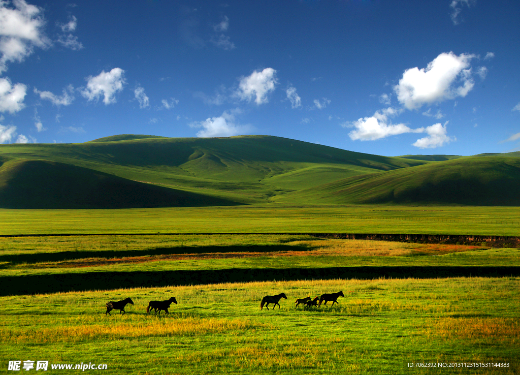
[[[0,167],[1,208],[99,209],[229,204],[235,203],[52,161],[15,160]]]

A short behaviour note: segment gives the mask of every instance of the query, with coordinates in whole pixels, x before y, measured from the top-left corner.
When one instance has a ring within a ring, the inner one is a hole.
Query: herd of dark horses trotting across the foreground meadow
[[[339,302],[337,302],[337,298],[339,296],[342,296],[344,297],[343,295],[343,291],[339,291],[337,293],[325,293],[325,294],[322,294],[320,295],[319,297],[317,296],[314,300],[311,300],[310,299],[310,296],[306,297],[306,298],[298,298],[296,300],[296,302],[294,302],[296,304],[296,306],[300,305],[300,304],[304,304],[305,306],[316,306],[316,307],[319,307],[321,306],[321,303],[322,302],[325,302],[324,305],[327,304],[327,302],[332,302],[332,305],[334,305],[334,303],[337,303],[339,304]],[[285,293],[280,293],[280,294],[277,294],[277,295],[266,295],[263,299],[262,299],[262,302],[260,303],[260,309],[263,310],[264,309],[264,306],[269,309],[268,305],[270,303],[273,304],[272,306],[272,309],[275,309],[276,305],[278,305],[278,308],[280,308],[280,304],[278,303],[282,298],[286,299],[287,300],[287,296],[285,295]],[[150,301],[148,303],[148,307],[146,308],[146,313],[147,314],[150,314],[153,310],[153,313],[157,315],[157,313],[159,312],[159,314],[161,313],[161,311],[164,311],[165,314],[170,314],[168,312],[168,308],[170,308],[170,305],[172,303],[175,303],[177,304],[177,300],[175,299],[175,297],[172,297],[170,298],[169,300],[166,300],[166,301]],[[111,315],[110,312],[112,310],[119,310],[119,315],[121,314],[126,314],[126,311],[125,311],[125,306],[127,304],[134,304],[134,301],[132,301],[131,298],[125,298],[124,300],[121,300],[121,301],[110,301],[110,302],[107,302],[107,312],[105,313],[105,315]]]

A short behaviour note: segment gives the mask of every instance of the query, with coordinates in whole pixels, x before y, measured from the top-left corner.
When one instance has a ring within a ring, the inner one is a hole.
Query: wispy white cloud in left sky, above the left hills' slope
[[[115,103],[115,94],[123,89],[125,79],[123,77],[124,70],[121,68],[114,68],[110,72],[104,70],[95,77],[88,76],[87,87],[81,90],[81,94],[88,99],[98,100],[103,95],[103,103],[109,105]]]

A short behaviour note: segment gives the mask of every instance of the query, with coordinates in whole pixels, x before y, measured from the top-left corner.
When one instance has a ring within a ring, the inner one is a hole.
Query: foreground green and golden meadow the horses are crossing
[[[2,364],[107,364],[106,373],[481,373],[520,370],[518,278],[315,280],[139,288],[0,298]],[[339,305],[296,298],[343,290]],[[281,308],[259,309],[285,292]],[[127,314],[105,302],[131,296]],[[176,296],[170,316],[150,300]],[[492,362],[509,368],[410,369]],[[50,366],[50,365],[49,365]]]

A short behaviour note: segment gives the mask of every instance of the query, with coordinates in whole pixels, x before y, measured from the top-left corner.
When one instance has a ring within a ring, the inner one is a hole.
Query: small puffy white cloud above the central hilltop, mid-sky
[[[275,69],[265,68],[261,72],[255,70],[251,75],[241,77],[235,95],[247,101],[255,98],[255,103],[261,105],[268,102],[267,94],[274,91],[277,83]]]

